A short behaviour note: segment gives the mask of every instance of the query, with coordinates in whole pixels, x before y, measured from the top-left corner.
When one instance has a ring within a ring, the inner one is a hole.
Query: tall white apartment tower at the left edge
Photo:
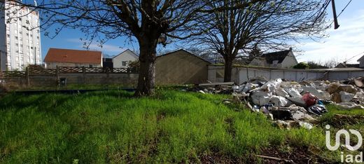
[[[29,64],[41,64],[39,25],[37,11],[14,1],[0,2],[1,70],[24,70]]]

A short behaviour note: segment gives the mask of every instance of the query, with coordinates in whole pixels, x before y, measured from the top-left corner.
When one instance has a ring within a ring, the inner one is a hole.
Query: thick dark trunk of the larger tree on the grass
[[[139,41],[139,79],[137,90],[134,96],[153,95],[155,83],[155,57],[157,48],[157,39],[155,41]]]

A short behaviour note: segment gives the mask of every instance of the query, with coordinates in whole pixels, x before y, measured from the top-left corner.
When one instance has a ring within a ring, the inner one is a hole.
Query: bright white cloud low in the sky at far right
[[[339,18],[340,27],[328,29],[330,36],[321,43],[306,41],[297,44],[297,48],[304,50],[298,60],[325,62],[333,58],[339,62],[349,60],[349,63],[356,63],[364,55],[364,10],[353,15],[355,17]]]

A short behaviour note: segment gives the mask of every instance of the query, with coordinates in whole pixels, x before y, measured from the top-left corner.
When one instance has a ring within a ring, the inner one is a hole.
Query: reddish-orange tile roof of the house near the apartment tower
[[[71,62],[71,63],[92,63],[102,62],[102,53],[94,50],[68,50],[49,48],[44,62]]]

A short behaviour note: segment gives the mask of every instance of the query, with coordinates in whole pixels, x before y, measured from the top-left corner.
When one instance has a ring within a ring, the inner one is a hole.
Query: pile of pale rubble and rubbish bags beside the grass
[[[234,102],[245,101],[255,112],[267,114],[280,128],[311,129],[316,117],[328,112],[325,104],[342,109],[364,109],[364,78],[347,81],[283,81],[276,78],[251,79],[240,86],[233,83],[200,84],[200,93],[232,93]],[[216,87],[214,87],[216,86]],[[224,100],[224,103],[230,103]]]

